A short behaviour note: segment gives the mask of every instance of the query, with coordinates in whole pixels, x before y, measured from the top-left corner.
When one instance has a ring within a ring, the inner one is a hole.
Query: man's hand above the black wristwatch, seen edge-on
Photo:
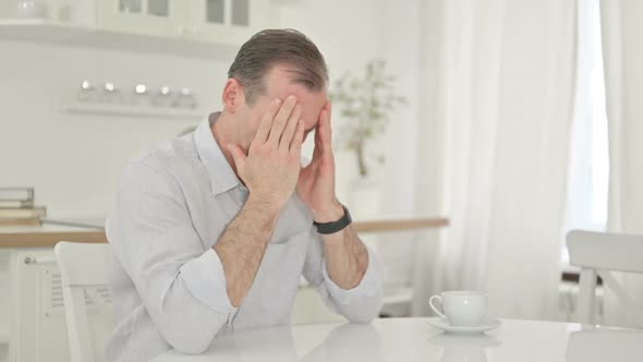
[[[330,101],[319,112],[313,160],[302,169],[296,185],[300,198],[317,222],[337,221],[343,209],[335,196],[335,156],[331,147]]]

